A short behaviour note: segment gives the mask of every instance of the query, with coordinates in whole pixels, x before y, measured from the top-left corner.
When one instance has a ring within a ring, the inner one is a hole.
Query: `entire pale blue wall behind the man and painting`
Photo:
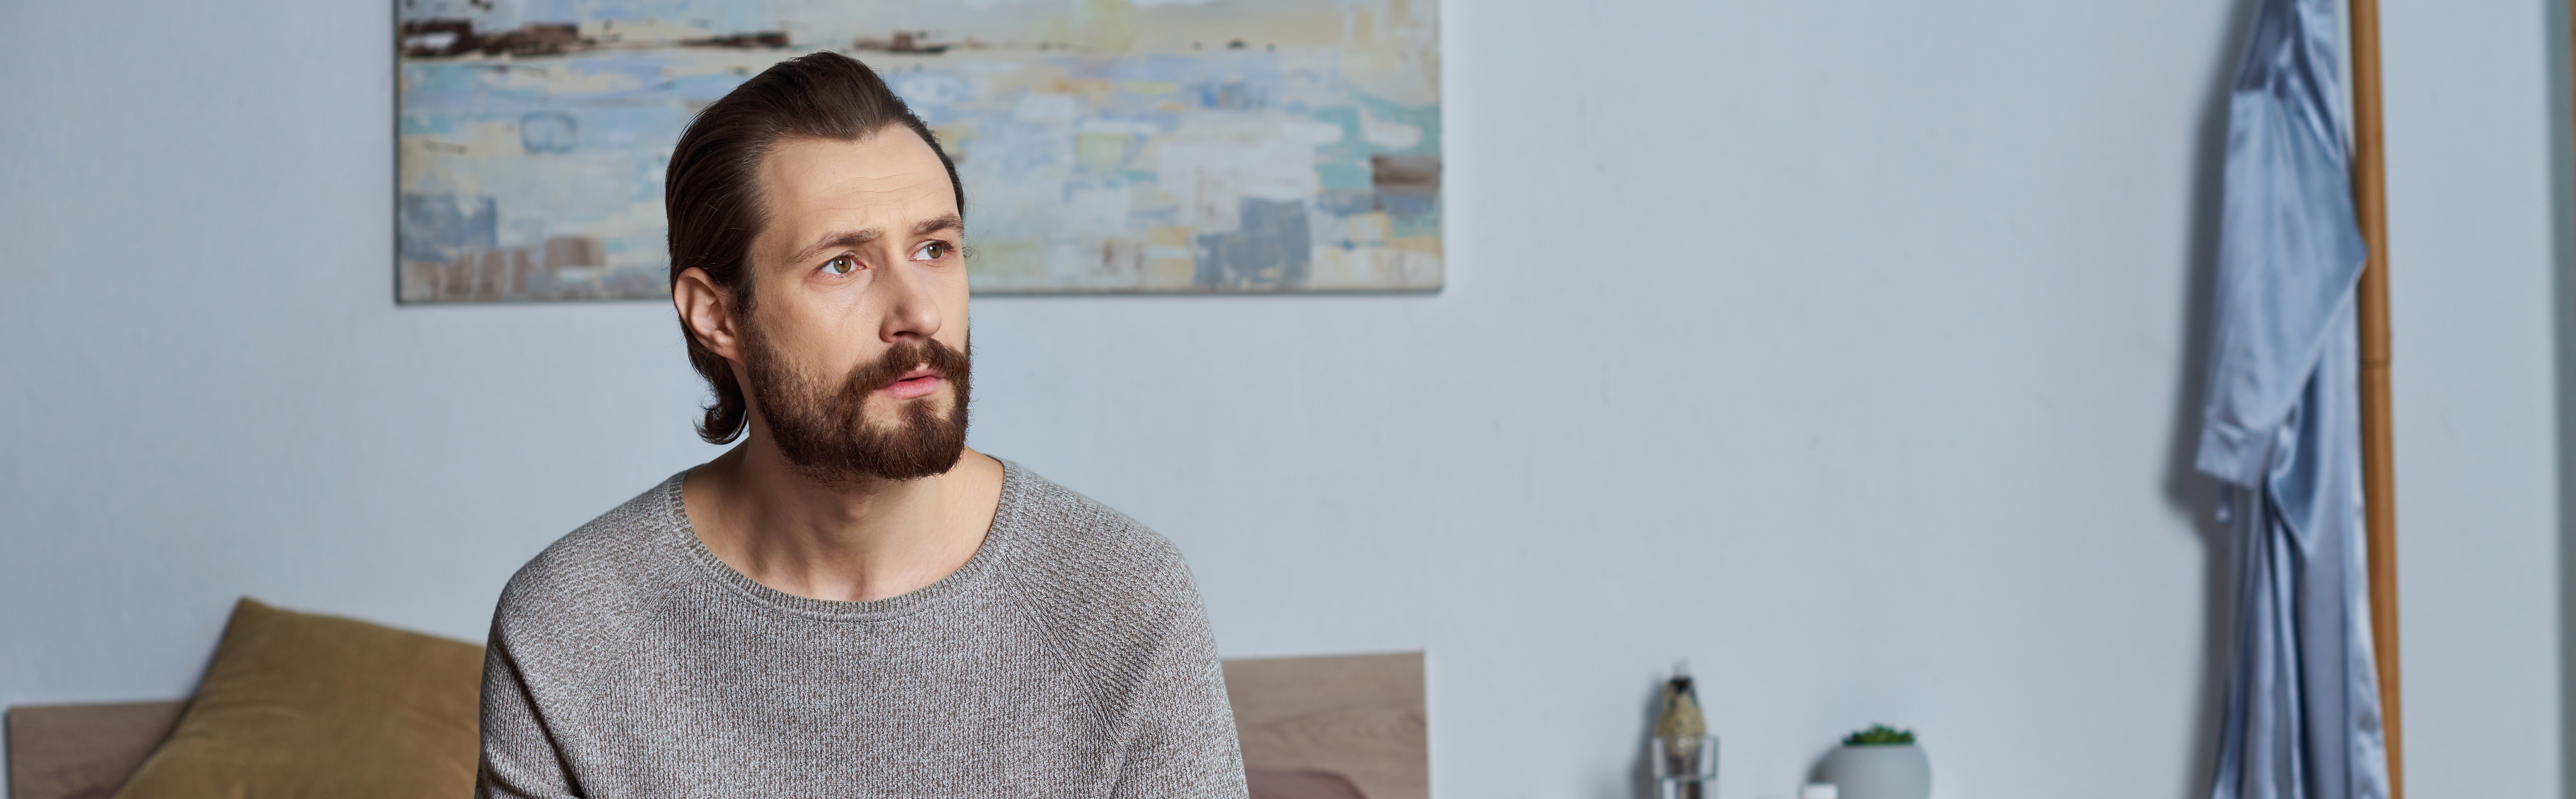
[[[981,299],[974,441],[1157,526],[1229,655],[1427,647],[1440,796],[2184,799],[2241,8],[1445,8],[1437,296]],[[2543,3],[2388,3],[2409,776],[2561,791]],[[482,637],[711,456],[657,304],[392,304],[376,3],[0,5],[0,704],[178,696],[250,593]],[[2563,88],[2561,88],[2563,90]]]

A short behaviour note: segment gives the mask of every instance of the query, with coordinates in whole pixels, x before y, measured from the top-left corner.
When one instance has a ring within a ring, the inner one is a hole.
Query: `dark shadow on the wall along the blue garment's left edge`
[[[2184,276],[2182,358],[2174,369],[2174,430],[2164,459],[2164,500],[2192,515],[2202,549],[2202,637],[2200,637],[2200,688],[2192,709],[2190,781],[2179,799],[2210,796],[2210,776],[2218,768],[2218,714],[2228,691],[2228,611],[2236,606],[2236,549],[2228,528],[2218,523],[2218,479],[2192,469],[2200,454],[2200,407],[2208,397],[2210,314],[2218,281],[2218,214],[2226,201],[2228,160],[2228,88],[2236,80],[2236,59],[2244,54],[2257,0],[2241,0],[2228,18],[2226,46],[2210,67],[2210,88],[2200,103],[2200,142],[2192,157],[2192,217],[2190,265]]]

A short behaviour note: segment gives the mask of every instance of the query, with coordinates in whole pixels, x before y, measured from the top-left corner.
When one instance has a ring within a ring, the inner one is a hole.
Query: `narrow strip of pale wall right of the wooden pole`
[[[2566,18],[2385,5],[2398,613],[2414,796],[2563,784]],[[2558,93],[2553,98],[2553,93]],[[2561,320],[2563,322],[2563,320]],[[2553,343],[2553,338],[2558,338]]]

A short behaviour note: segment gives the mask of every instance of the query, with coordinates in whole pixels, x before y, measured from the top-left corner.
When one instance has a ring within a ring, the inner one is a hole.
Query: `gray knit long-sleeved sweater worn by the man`
[[[1244,796],[1198,588],[1154,531],[1002,464],[984,546],[922,590],[734,572],[680,477],[510,577],[479,796]]]

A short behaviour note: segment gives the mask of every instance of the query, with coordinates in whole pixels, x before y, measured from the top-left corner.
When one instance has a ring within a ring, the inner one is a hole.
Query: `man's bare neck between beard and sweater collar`
[[[953,575],[984,544],[1002,464],[969,448],[943,474],[827,485],[765,436],[690,469],[688,523],[724,564],[822,601],[878,601]]]

